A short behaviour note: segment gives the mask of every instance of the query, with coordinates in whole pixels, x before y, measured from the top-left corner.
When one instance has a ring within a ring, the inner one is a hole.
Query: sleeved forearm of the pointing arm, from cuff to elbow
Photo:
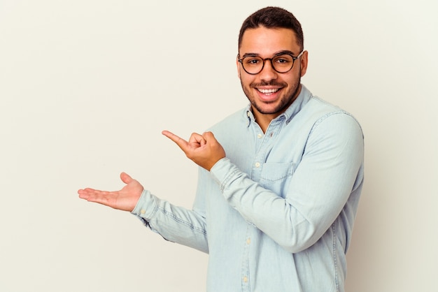
[[[218,169],[221,168],[221,169]],[[290,252],[310,245],[316,235],[316,222],[299,212],[288,200],[264,189],[250,180],[229,161],[222,160],[213,167],[214,177],[226,177],[220,184],[225,200],[250,224],[269,235]]]

